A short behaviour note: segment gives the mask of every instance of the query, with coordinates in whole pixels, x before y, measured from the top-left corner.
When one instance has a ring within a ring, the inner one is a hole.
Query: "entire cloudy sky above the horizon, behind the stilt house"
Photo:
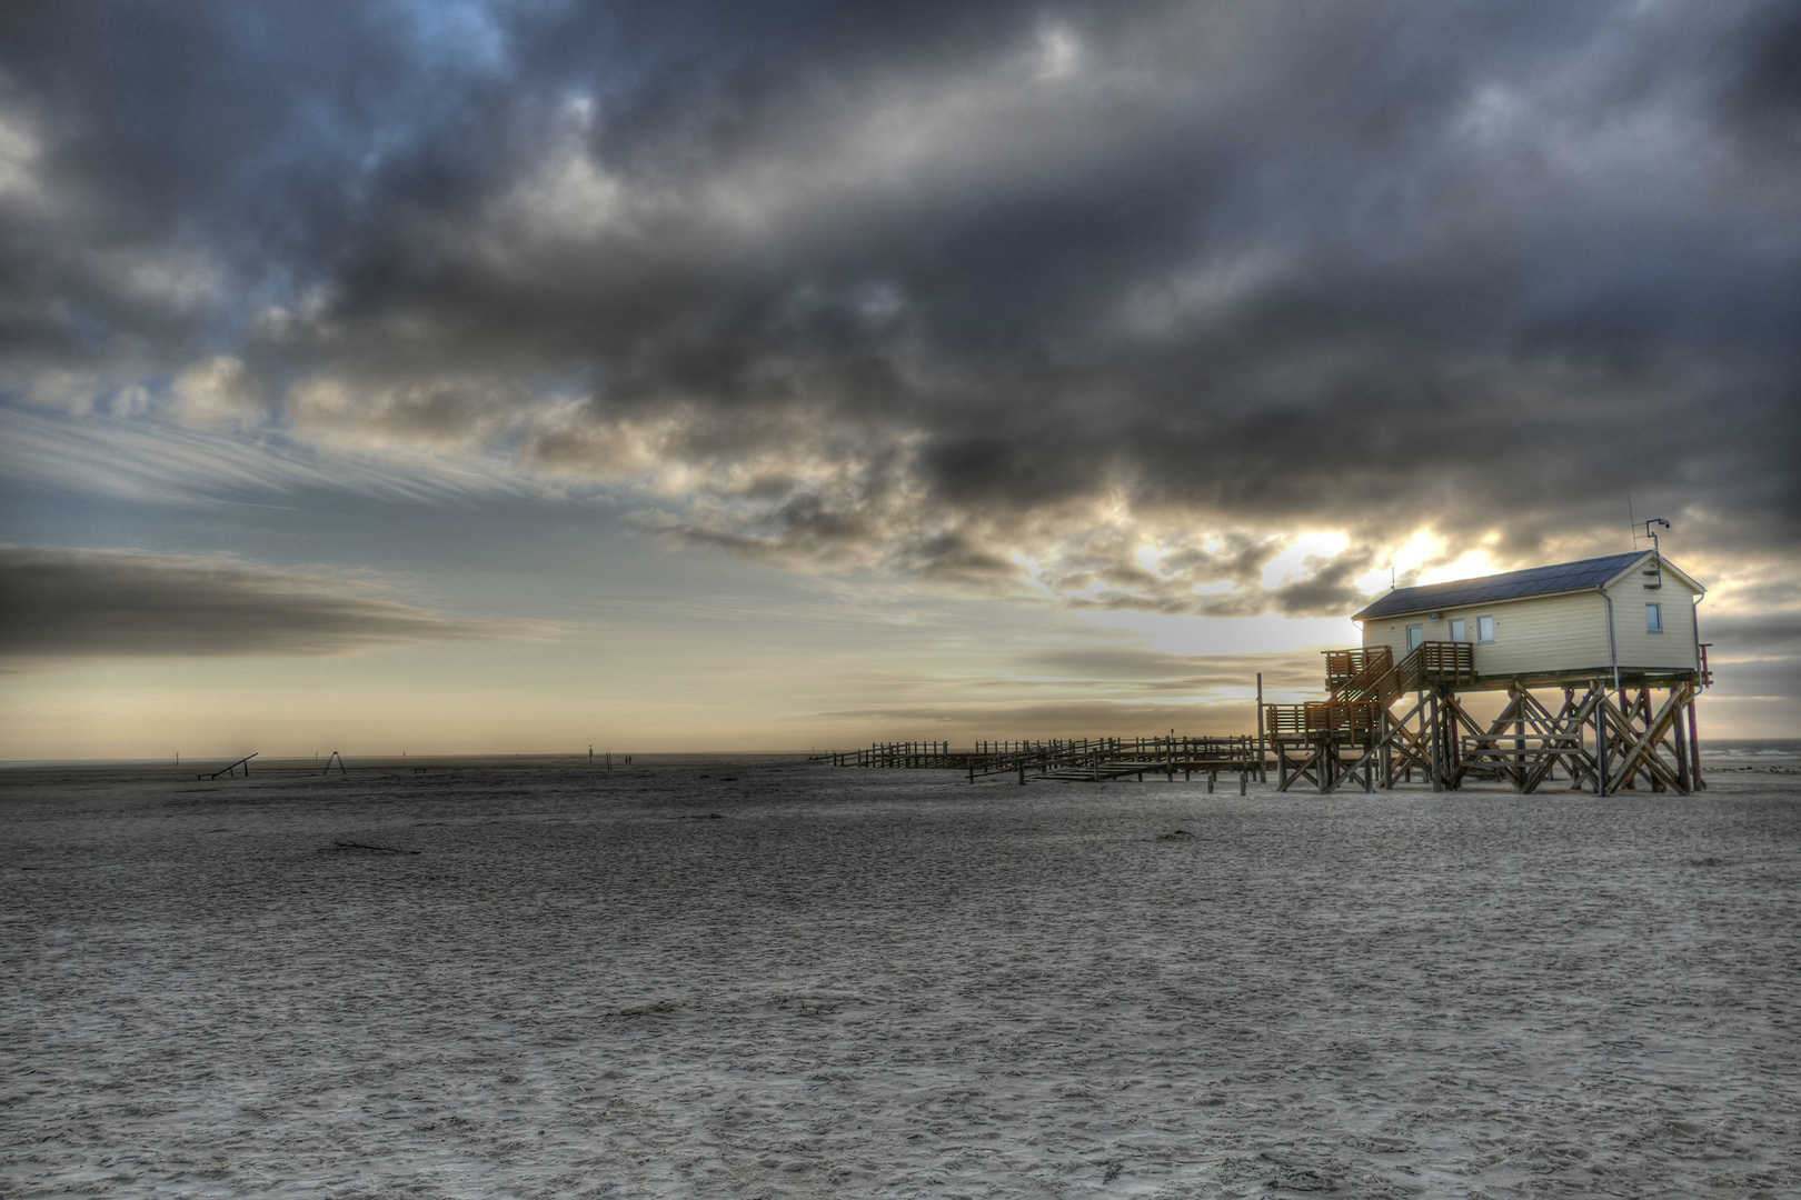
[[[0,757],[1237,732],[1390,576],[1801,736],[1801,9],[0,9]]]

